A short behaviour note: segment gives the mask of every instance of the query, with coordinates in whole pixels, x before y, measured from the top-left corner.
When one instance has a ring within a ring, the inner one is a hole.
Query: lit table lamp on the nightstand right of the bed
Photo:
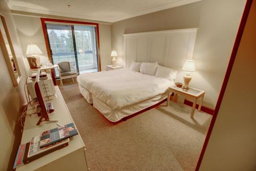
[[[182,88],[189,89],[189,82],[192,79],[191,72],[196,71],[195,61],[192,59],[187,59],[182,67],[182,70],[185,71],[185,74],[183,76],[184,84]]]

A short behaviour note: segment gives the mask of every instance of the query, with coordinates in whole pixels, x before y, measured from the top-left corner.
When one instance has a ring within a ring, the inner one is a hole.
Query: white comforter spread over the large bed
[[[112,110],[166,93],[174,82],[128,69],[81,74],[77,82]]]

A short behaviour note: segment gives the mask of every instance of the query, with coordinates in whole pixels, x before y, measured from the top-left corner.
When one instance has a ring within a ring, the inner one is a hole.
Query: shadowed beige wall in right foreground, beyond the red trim
[[[253,1],[200,170],[256,168],[255,21]]]

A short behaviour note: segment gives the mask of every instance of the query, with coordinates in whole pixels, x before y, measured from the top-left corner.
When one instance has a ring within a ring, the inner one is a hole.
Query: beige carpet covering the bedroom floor
[[[211,115],[166,102],[112,123],[82,97],[77,83],[61,90],[86,144],[91,170],[195,170]]]

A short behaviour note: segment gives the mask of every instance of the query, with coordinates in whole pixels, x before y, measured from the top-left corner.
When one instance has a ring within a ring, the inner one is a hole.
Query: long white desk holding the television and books
[[[49,115],[50,119],[57,119],[58,122],[46,123],[42,122],[40,125],[36,126],[39,119],[37,115],[32,115],[31,117],[27,115],[25,126],[22,136],[22,144],[27,143],[32,137],[40,135],[41,132],[54,129],[58,127],[56,123],[60,125],[65,125],[74,122],[67,105],[59,91],[59,88],[55,86],[56,94],[51,96],[53,100],[54,112]],[[29,105],[28,109],[32,109]],[[79,131],[79,130],[78,130]],[[17,171],[29,171],[29,170],[88,170],[86,157],[84,154],[85,145],[82,141],[80,134],[70,138],[69,145],[43,156],[31,163],[25,164],[23,166],[17,167]]]

